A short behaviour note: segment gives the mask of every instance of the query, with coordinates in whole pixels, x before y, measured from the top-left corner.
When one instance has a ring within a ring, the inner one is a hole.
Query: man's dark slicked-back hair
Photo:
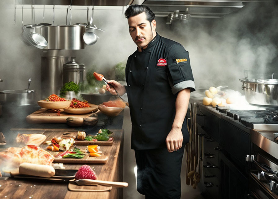
[[[129,18],[131,16],[139,15],[143,12],[146,13],[146,20],[152,22],[155,19],[155,14],[150,10],[149,7],[138,4],[129,6],[124,12],[124,15],[126,18]]]

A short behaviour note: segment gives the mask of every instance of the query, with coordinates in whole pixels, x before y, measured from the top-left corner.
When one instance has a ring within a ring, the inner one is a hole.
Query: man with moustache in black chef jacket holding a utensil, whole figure
[[[128,94],[137,190],[146,198],[180,198],[182,156],[189,141],[185,117],[195,90],[188,52],[156,33],[149,7],[129,6],[125,16],[137,50],[128,57],[127,86],[108,82],[120,95]]]

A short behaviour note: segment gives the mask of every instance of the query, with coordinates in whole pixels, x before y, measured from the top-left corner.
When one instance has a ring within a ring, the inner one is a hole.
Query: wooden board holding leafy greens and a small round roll
[[[112,146],[114,142],[114,133],[110,134],[110,137],[113,137],[113,140],[111,141],[87,141],[87,140],[78,140],[77,139],[77,131],[69,131],[69,132],[64,132],[64,133],[69,133],[67,135],[61,134],[61,136],[56,136],[56,137],[63,137],[63,138],[73,138],[74,142],[76,145],[81,145],[81,146],[87,146],[87,145],[99,145],[99,146]]]

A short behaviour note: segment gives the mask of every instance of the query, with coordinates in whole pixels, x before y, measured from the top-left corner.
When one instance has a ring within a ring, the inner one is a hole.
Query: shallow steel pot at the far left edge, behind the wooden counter
[[[32,105],[36,104],[35,90],[3,90],[0,91],[0,101],[3,104],[11,105]]]

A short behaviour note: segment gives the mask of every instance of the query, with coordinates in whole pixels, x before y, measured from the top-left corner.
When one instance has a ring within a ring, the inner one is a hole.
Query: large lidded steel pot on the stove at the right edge
[[[278,106],[278,79],[240,79],[249,104]]]

